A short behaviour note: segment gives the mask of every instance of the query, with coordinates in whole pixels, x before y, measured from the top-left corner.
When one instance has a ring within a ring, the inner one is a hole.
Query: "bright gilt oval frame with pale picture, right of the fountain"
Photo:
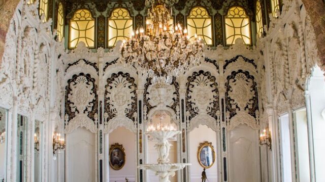
[[[210,168],[215,161],[215,151],[211,142],[201,143],[198,150],[198,160],[203,168]]]

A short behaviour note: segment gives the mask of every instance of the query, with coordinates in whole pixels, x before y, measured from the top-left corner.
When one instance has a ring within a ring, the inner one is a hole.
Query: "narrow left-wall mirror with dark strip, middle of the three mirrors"
[[[26,180],[27,117],[19,114],[17,117],[17,181],[23,182]]]

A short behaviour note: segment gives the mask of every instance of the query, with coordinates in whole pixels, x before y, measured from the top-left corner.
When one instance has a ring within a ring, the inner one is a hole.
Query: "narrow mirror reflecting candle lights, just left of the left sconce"
[[[42,123],[35,120],[34,127],[34,181],[41,181],[42,174],[42,149],[41,149],[41,139],[42,139]]]

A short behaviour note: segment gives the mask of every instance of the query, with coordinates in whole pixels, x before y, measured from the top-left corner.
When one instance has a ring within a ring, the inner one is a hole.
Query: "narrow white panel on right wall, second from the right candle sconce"
[[[298,171],[300,181],[310,181],[309,170],[309,152],[308,152],[308,132],[306,109],[300,109],[295,112],[297,127],[297,152]]]

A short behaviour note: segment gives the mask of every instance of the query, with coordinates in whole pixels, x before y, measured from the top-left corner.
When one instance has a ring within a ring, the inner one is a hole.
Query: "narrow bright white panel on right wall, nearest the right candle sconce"
[[[289,182],[292,181],[289,115],[285,114],[281,116],[279,122],[282,181]]]

